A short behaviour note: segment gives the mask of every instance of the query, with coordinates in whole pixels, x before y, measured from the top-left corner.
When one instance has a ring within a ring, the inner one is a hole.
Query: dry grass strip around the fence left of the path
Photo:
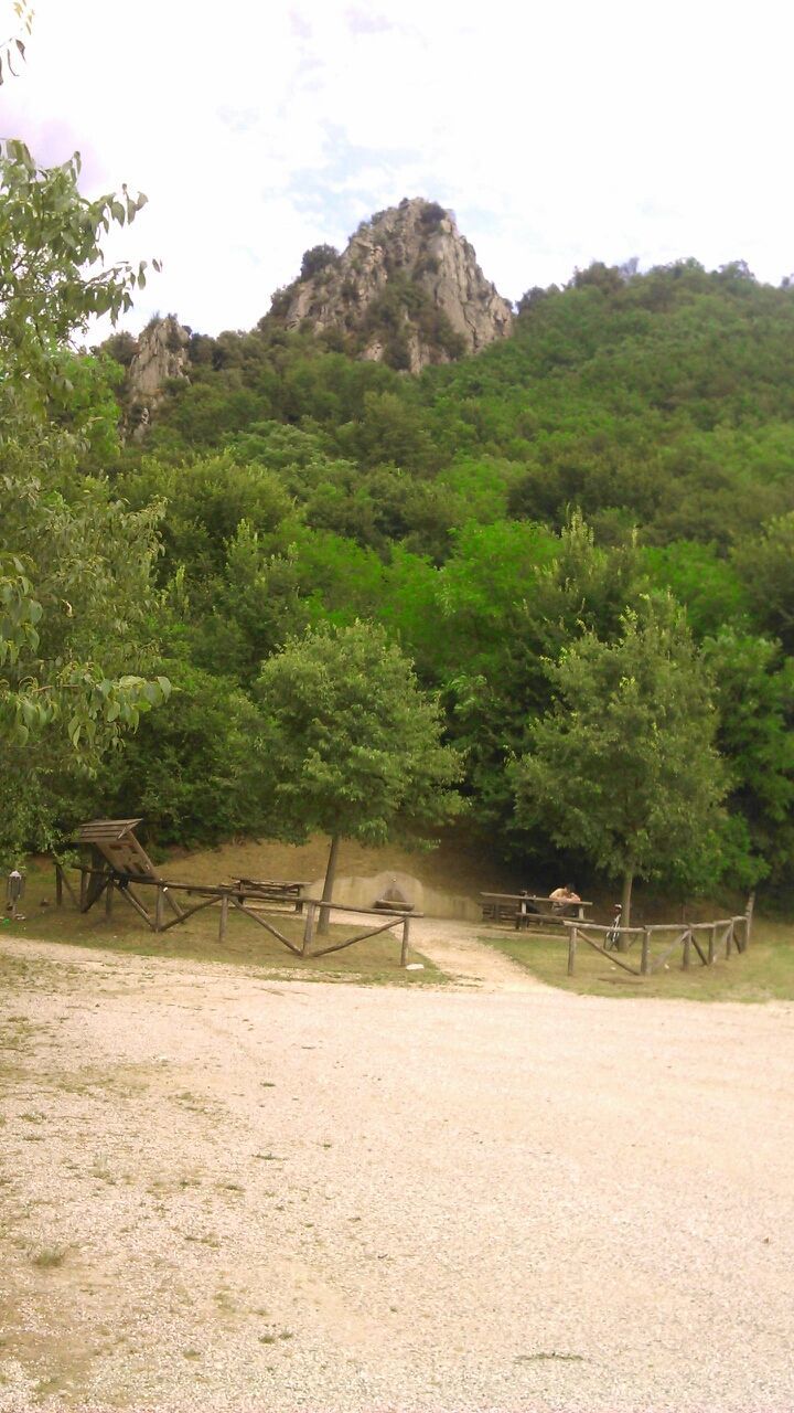
[[[72,877],[72,886],[75,886]],[[148,900],[148,890],[138,889]],[[185,894],[178,894],[185,899]],[[186,899],[191,901],[198,899]],[[151,890],[154,907],[154,890]],[[16,918],[4,924],[13,935],[30,937],[44,942],[62,942],[88,948],[107,948],[114,952],[130,952],[136,957],[172,957],[185,961],[225,962],[226,965],[261,968],[263,972],[301,975],[318,981],[359,981],[370,985],[438,985],[439,972],[420,952],[410,950],[410,962],[422,962],[424,971],[404,971],[400,966],[401,928],[381,933],[365,942],[355,942],[345,951],[331,957],[295,957],[275,937],[260,927],[253,918],[236,909],[229,910],[229,927],[223,942],[218,940],[220,909],[208,907],[186,923],[178,923],[167,933],[151,933],[143,918],[119,894],[113,900],[113,914],[105,916],[105,897],[90,913],[81,914],[64,890],[64,907],[55,907],[55,882],[48,869],[32,868],[27,875],[25,897],[23,900],[24,920]],[[278,931],[291,942],[301,942],[304,918],[295,913],[273,911],[266,914]],[[369,924],[377,926],[379,918],[362,917],[355,927],[331,924],[328,944],[343,941],[363,931]],[[315,944],[316,945],[316,940]]]

